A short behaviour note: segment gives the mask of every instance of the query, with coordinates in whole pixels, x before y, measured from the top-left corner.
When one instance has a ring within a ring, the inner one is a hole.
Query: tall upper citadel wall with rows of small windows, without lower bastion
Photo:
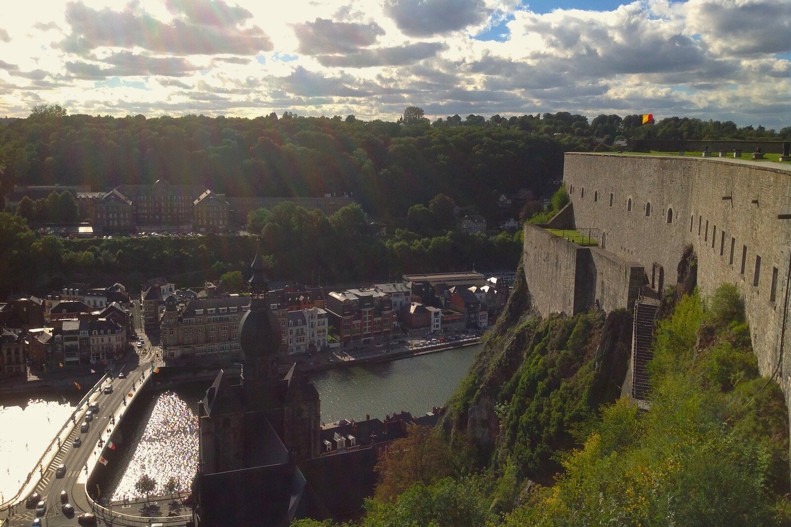
[[[703,295],[725,282],[739,286],[760,370],[771,375],[780,367],[778,380],[788,393],[791,363],[788,353],[781,357],[780,341],[784,332],[789,337],[791,168],[727,158],[567,153],[564,184],[577,228],[600,229],[600,246],[639,262],[654,288],[660,281],[676,284],[687,245],[698,255]]]

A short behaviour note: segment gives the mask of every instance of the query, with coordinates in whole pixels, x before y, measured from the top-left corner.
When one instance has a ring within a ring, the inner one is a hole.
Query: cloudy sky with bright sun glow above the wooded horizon
[[[789,0],[4,2],[0,116],[570,111],[791,126]]]

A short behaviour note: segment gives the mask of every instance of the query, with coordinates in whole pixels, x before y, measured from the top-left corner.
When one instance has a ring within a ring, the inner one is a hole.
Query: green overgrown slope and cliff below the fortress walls
[[[630,315],[541,320],[518,283],[444,426],[380,461],[361,525],[789,525],[788,412],[736,288],[664,313],[638,412],[616,399]]]

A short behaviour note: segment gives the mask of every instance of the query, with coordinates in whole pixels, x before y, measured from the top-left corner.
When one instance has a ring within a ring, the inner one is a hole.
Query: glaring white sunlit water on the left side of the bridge
[[[40,400],[0,406],[0,503],[17,494],[73,411],[73,405]]]

